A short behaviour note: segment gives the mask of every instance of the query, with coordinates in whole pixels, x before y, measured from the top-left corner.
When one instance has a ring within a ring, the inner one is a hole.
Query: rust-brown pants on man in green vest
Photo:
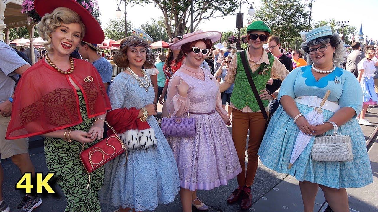
[[[251,186],[256,175],[259,156],[257,151],[264,136],[266,121],[262,113],[243,113],[232,109],[232,140],[234,140],[242,172],[237,175],[239,186]],[[248,163],[245,170],[245,147],[248,140]]]

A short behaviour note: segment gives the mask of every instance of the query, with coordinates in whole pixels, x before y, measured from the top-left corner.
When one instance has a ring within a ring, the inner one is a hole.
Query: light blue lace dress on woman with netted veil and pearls
[[[132,75],[123,72],[110,86],[112,109],[143,108],[153,103],[154,98],[152,86],[146,92]],[[125,154],[108,162],[104,186],[99,191],[102,203],[135,208],[136,211],[153,210],[160,203],[172,202],[178,194],[180,183],[172,150],[155,117],[148,117],[147,122],[155,131],[157,148],[130,151],[126,164]]]

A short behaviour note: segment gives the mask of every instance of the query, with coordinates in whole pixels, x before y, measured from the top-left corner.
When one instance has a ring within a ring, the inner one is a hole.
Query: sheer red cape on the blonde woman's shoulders
[[[77,59],[74,66],[69,76],[84,95],[88,117],[110,110],[110,101],[96,68]],[[41,135],[81,122],[79,97],[68,75],[55,71],[43,58],[24,72],[15,89],[6,139]]]

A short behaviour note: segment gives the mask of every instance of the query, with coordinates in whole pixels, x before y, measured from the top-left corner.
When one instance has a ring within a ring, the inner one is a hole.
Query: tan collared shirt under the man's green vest
[[[268,53],[266,53],[266,51],[263,51],[263,54],[260,60],[255,62],[251,59],[251,56],[248,54],[249,52],[248,50],[249,50],[249,47],[247,49],[247,58],[248,58],[248,64],[249,64],[249,67],[251,67],[252,73],[254,73],[260,67],[260,64],[262,62],[270,65]],[[236,75],[236,69],[237,69],[237,57],[235,55],[236,54],[234,54],[232,57],[231,63],[228,67],[227,74],[225,77],[225,81],[231,84],[234,83],[235,81],[235,75]],[[270,72],[270,78],[273,78],[273,79],[279,78],[283,80],[285,77],[287,77],[288,74],[289,74],[289,71],[286,70],[285,66],[282,63],[280,63],[280,61],[276,57],[274,57],[272,70]],[[230,104],[230,107],[237,109],[232,103]],[[265,110],[269,111],[269,107],[266,107]],[[252,109],[249,108],[248,106],[245,106],[240,111],[243,111],[243,113],[253,113]],[[259,112],[261,111],[256,111],[256,113],[259,113]]]

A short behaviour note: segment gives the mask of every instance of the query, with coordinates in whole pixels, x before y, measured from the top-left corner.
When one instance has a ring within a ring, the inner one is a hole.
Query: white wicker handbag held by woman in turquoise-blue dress
[[[333,125],[333,135],[317,136],[311,149],[314,161],[351,161],[352,141],[349,135],[338,135],[337,125],[332,121],[325,121]]]

